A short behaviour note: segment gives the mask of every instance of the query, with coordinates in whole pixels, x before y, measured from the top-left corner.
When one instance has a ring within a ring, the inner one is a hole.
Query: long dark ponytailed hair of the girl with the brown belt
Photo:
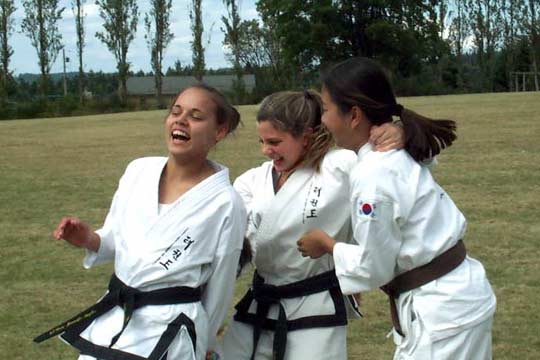
[[[430,119],[398,104],[383,69],[368,58],[352,58],[334,65],[323,74],[322,83],[343,113],[358,106],[374,125],[399,116],[405,150],[416,161],[437,155],[457,138],[455,121]]]

